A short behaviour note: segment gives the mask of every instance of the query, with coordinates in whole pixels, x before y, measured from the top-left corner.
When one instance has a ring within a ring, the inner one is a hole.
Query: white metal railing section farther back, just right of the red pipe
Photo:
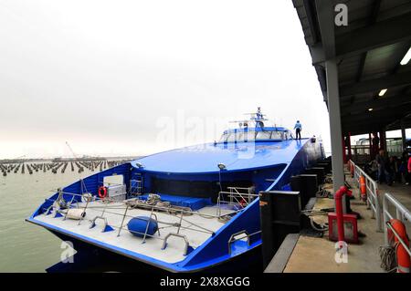
[[[378,200],[378,183],[374,181],[363,169],[357,166],[353,161],[348,161],[348,165],[353,163],[354,171],[353,178],[357,182],[358,189],[361,192],[360,187],[360,176],[364,176],[365,179],[365,189],[367,196],[367,208],[371,209],[373,212],[373,218],[376,221],[376,231],[383,232],[383,221],[381,219],[383,210],[381,209],[381,204]],[[350,167],[351,171],[351,167]]]

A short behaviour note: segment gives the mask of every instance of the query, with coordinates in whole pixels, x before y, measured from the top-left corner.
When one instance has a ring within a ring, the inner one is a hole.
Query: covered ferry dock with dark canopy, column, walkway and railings
[[[351,1],[337,4],[327,0],[293,0],[293,5],[329,112],[332,184],[322,184],[322,187],[328,187],[329,197],[339,193],[341,203],[338,203],[338,208],[342,208],[343,216],[340,227],[332,224],[332,231],[337,228],[341,234],[348,223],[351,225],[349,230],[358,234],[359,243],[356,244],[357,236],[351,243],[342,240],[348,243],[345,248],[342,244],[336,245],[336,237],[331,240],[328,231],[315,236],[293,231],[287,226],[282,226],[287,228],[284,234],[279,232],[277,222],[270,221],[269,215],[262,215],[262,222],[271,223],[268,223],[271,229],[267,227],[266,233],[272,231],[280,235],[282,242],[280,245],[271,244],[274,251],[269,253],[266,250],[264,253],[265,272],[383,273],[396,270],[409,273],[409,263],[406,266],[395,265],[392,269],[387,265],[393,266],[391,263],[398,261],[395,259],[398,256],[395,245],[406,251],[402,257],[406,257],[406,253],[411,255],[403,239],[411,234],[411,187],[402,182],[395,182],[392,186],[376,182],[377,174],[366,168],[380,157],[379,179],[389,182],[391,178],[386,179],[385,171],[382,171],[386,161],[392,157],[404,166],[411,157],[411,146],[406,137],[406,130],[411,128],[411,3]],[[386,132],[391,130],[401,132],[401,143],[395,151],[387,147]],[[352,137],[363,134],[368,139],[363,139],[366,142],[359,159],[359,152],[352,147]],[[396,160],[399,157],[401,161]],[[386,175],[389,177],[391,174]],[[360,177],[365,181],[365,201],[360,197]],[[351,185],[354,196],[349,203],[344,194],[347,189],[343,190],[346,183]],[[301,213],[307,207],[303,203],[304,195],[300,192]],[[312,210],[337,209],[336,200],[316,196]],[[337,216],[333,215],[313,215],[311,223],[314,221],[328,228],[327,223]],[[395,234],[396,244],[390,242],[387,235],[394,229],[392,219],[399,220],[401,229],[405,226],[407,233]],[[307,223],[298,224],[295,219],[292,223],[300,229],[307,227]],[[334,236],[335,233],[332,232]],[[266,239],[266,243],[271,241]],[[338,254],[336,246],[339,246]],[[382,246],[384,255],[380,256]],[[342,251],[346,252],[346,262],[341,260]],[[273,257],[272,253],[275,254]],[[340,259],[336,255],[340,255]]]

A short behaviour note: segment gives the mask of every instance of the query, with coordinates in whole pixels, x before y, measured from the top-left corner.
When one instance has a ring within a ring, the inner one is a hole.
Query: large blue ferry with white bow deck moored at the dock
[[[291,176],[324,157],[321,140],[295,140],[267,121],[258,108],[218,141],[100,171],[58,189],[26,220],[81,252],[155,269],[250,265],[262,243],[258,192],[290,190]]]

